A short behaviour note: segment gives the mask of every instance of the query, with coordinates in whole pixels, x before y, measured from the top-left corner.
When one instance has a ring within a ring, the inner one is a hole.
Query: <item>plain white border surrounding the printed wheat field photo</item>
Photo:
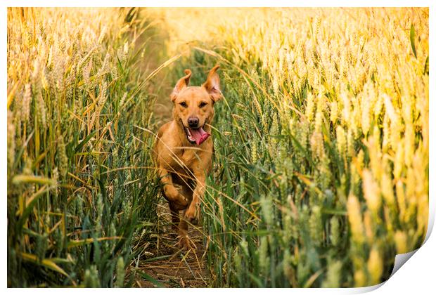
[[[430,27],[430,52],[435,48],[435,4],[433,1],[425,1],[425,0],[416,0],[416,1],[404,1],[404,0],[383,0],[383,1],[345,1],[345,0],[331,0],[331,1],[314,1],[314,0],[306,0],[306,1],[285,1],[285,0],[269,0],[269,1],[260,1],[260,0],[250,0],[250,1],[231,1],[231,0],[220,0],[220,1],[199,1],[199,0],[185,0],[185,1],[139,1],[139,0],[124,0],[124,1],[115,1],[115,0],[105,0],[105,1],[84,1],[84,0],[76,0],[76,1],[53,1],[53,0],[45,0],[45,1],[36,1],[36,0],[4,0],[1,1],[1,15],[0,19],[1,24],[1,51],[0,54],[2,56],[2,65],[1,68],[1,91],[3,93],[4,99],[1,100],[2,107],[0,110],[0,136],[4,138],[4,140],[0,140],[0,150],[1,155],[4,157],[0,157],[1,164],[1,173],[0,173],[0,190],[2,199],[4,200],[4,206],[1,206],[1,216],[4,216],[3,226],[1,231],[3,232],[4,241],[1,243],[1,252],[4,254],[4,265],[1,268],[1,275],[3,277],[3,286],[6,288],[7,285],[7,265],[6,265],[6,240],[7,240],[7,232],[6,232],[6,118],[7,118],[7,107],[6,107],[6,7],[8,6],[67,6],[67,7],[109,7],[109,6],[148,6],[148,7],[259,7],[265,6],[267,4],[270,7],[284,7],[284,6],[294,6],[294,7],[339,7],[339,6],[353,6],[353,7],[380,7],[380,6],[427,6],[430,7],[430,19],[429,19],[429,27]],[[433,70],[436,69],[435,58],[430,57],[430,151],[435,148],[435,130],[434,126],[436,126],[435,122],[435,74],[433,74]],[[435,178],[435,157],[430,156],[430,180]],[[416,251],[416,254],[413,255],[413,258],[410,259],[406,263],[406,266],[400,268],[395,275],[393,275],[383,287],[380,287],[374,291],[374,294],[410,294],[414,292],[416,294],[430,294],[434,292],[435,288],[435,279],[434,279],[434,270],[433,263],[436,261],[436,254],[433,249],[436,249],[436,238],[434,235],[430,235],[430,231],[434,224],[435,218],[435,186],[432,185],[430,181],[430,191],[429,191],[429,205],[430,205],[430,220],[429,220],[429,232],[427,236],[427,241]],[[380,284],[381,285],[381,284]],[[278,292],[278,294],[352,294],[352,293],[361,293],[362,291],[369,291],[370,288],[363,289],[274,289],[274,293]],[[430,291],[431,290],[431,291]],[[32,292],[32,294],[44,294],[57,292],[57,289],[7,289],[8,292],[21,294],[22,292]],[[65,294],[70,294],[70,292],[76,292],[75,289],[63,289]],[[86,294],[91,294],[94,290],[91,289],[82,289],[77,290],[81,293],[84,292]],[[189,292],[189,294],[202,294],[204,293],[203,289],[107,289],[105,292],[111,294],[119,294],[122,292],[132,292],[137,294],[143,294],[143,292],[153,292],[153,294],[167,294],[171,292],[175,293],[185,293]],[[269,292],[269,289],[238,289],[233,290],[238,293],[242,292],[248,294],[248,292],[252,293],[264,293]],[[225,289],[207,289],[207,292],[213,294],[222,294],[226,292]]]

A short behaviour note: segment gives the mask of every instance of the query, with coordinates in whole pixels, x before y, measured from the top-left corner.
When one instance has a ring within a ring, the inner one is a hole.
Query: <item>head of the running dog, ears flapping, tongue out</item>
[[[177,124],[181,124],[186,133],[186,139],[190,143],[200,145],[210,136],[210,133],[205,131],[205,127],[212,122],[214,117],[214,103],[222,97],[219,89],[218,68],[219,65],[216,65],[210,70],[202,86],[189,87],[192,72],[185,70],[186,76],[177,81],[170,95],[174,103],[174,119]]]

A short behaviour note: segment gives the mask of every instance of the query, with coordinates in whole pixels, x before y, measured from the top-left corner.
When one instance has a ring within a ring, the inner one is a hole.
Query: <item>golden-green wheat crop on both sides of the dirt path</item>
[[[207,286],[387,280],[427,230],[428,29],[428,8],[8,8],[8,286],[159,284],[137,267],[164,222],[153,133],[217,63]]]

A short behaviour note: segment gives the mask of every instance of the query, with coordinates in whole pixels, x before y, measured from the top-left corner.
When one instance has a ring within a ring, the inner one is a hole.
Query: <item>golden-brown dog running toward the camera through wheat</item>
[[[191,247],[187,221],[198,221],[205,179],[212,169],[210,124],[214,103],[222,97],[218,68],[216,65],[210,70],[202,86],[189,87],[192,72],[185,70],[186,76],[177,81],[170,95],[174,119],[160,127],[154,147],[163,195],[169,202],[173,224],[178,225],[179,243],[185,249]],[[182,218],[179,211],[183,211]]]

